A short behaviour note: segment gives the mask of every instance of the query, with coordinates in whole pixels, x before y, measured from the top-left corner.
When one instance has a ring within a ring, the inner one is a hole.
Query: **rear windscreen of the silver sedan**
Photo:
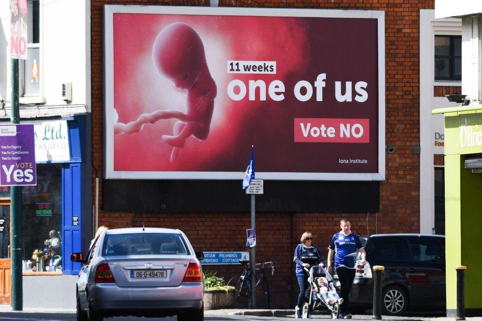
[[[102,256],[186,254],[189,250],[179,234],[111,234],[106,235],[102,248]]]

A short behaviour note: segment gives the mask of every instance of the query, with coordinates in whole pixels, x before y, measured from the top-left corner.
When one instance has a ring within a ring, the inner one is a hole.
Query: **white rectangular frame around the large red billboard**
[[[385,12],[338,9],[257,9],[155,5],[104,5],[104,177],[106,179],[241,179],[239,172],[203,171],[116,171],[114,170],[114,13],[195,14],[265,17],[318,17],[377,19],[378,32],[378,172],[376,173],[298,173],[256,172],[256,178],[310,181],[385,180]],[[107,59],[106,59],[107,58]],[[247,153],[247,152],[246,152]],[[247,155],[247,154],[246,154]],[[247,160],[247,158],[246,158]]]

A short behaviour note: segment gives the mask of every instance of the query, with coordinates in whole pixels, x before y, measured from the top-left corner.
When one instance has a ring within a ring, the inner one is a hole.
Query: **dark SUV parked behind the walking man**
[[[374,265],[385,267],[382,314],[400,315],[407,307],[445,307],[444,236],[378,234],[368,237],[364,247],[366,264],[362,267],[357,261],[357,274],[350,293],[350,306],[354,310],[373,305]]]

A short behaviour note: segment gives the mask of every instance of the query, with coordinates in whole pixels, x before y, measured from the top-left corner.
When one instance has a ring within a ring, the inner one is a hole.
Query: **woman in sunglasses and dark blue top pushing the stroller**
[[[320,251],[313,245],[313,235],[310,232],[305,232],[301,236],[301,243],[296,246],[294,250],[293,262],[296,263],[296,278],[300,286],[300,294],[298,295],[298,304],[295,307],[296,319],[301,318],[301,308],[305,303],[305,291],[310,286],[308,283],[308,273],[303,267],[308,270],[315,265],[323,266],[323,259]]]

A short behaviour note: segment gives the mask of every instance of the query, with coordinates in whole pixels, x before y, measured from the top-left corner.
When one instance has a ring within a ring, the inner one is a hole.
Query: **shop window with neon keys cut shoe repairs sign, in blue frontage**
[[[37,185],[22,188],[24,271],[62,271],[62,174],[37,166]]]

